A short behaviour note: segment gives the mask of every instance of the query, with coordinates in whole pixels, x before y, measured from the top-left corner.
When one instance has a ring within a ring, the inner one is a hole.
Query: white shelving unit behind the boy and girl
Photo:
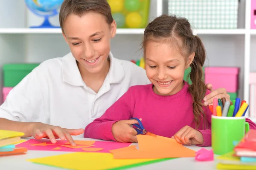
[[[149,21],[160,14],[168,14],[167,2],[151,0]],[[4,63],[42,62],[69,52],[61,29],[28,28],[30,25],[39,25],[43,19],[32,14],[23,0],[0,0],[0,4],[0,15],[8,17],[0,20],[0,70]],[[256,54],[256,48],[252,46],[256,44],[256,29],[250,29],[250,0],[240,0],[238,19],[238,29],[198,29],[196,32],[206,46],[207,66],[241,68],[239,97],[249,101],[249,72],[256,71],[252,67],[252,61],[256,61],[253,55]],[[57,25],[58,16],[50,21]],[[139,49],[143,33],[144,29],[117,29],[116,37],[111,40],[111,52],[120,59],[141,58],[143,52]],[[256,122],[256,118],[251,119]]]

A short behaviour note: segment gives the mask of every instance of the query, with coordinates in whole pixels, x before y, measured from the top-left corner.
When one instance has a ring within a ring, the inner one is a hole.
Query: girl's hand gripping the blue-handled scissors
[[[138,142],[137,131],[131,127],[132,124],[138,124],[135,119],[117,121],[112,126],[112,133],[116,141],[119,142]]]

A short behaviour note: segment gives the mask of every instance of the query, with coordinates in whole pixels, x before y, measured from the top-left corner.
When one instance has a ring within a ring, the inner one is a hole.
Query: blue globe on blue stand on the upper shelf
[[[58,9],[64,0],[25,0],[26,6],[34,14],[44,17],[44,23],[41,26],[31,26],[31,28],[59,28],[52,26],[49,17],[58,14]]]

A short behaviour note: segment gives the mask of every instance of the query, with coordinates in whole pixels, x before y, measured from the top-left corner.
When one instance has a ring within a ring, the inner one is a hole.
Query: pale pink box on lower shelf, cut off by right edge
[[[250,73],[250,117],[256,117],[256,72]]]

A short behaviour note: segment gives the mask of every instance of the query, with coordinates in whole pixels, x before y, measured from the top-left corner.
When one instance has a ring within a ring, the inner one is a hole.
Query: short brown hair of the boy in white
[[[113,22],[111,8],[107,0],[64,0],[59,13],[62,32],[64,33],[63,25],[69,14],[75,14],[81,17],[88,12],[102,14],[109,25]]]

